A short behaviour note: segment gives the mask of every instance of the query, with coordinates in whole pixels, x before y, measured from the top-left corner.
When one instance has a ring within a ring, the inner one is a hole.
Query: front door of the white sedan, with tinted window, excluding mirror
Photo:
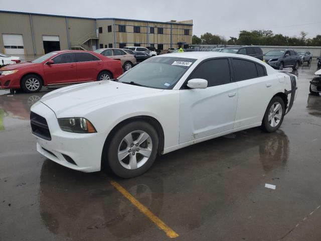
[[[189,79],[208,81],[206,89],[180,90],[180,144],[233,129],[238,87],[231,82],[229,60],[199,64]]]

